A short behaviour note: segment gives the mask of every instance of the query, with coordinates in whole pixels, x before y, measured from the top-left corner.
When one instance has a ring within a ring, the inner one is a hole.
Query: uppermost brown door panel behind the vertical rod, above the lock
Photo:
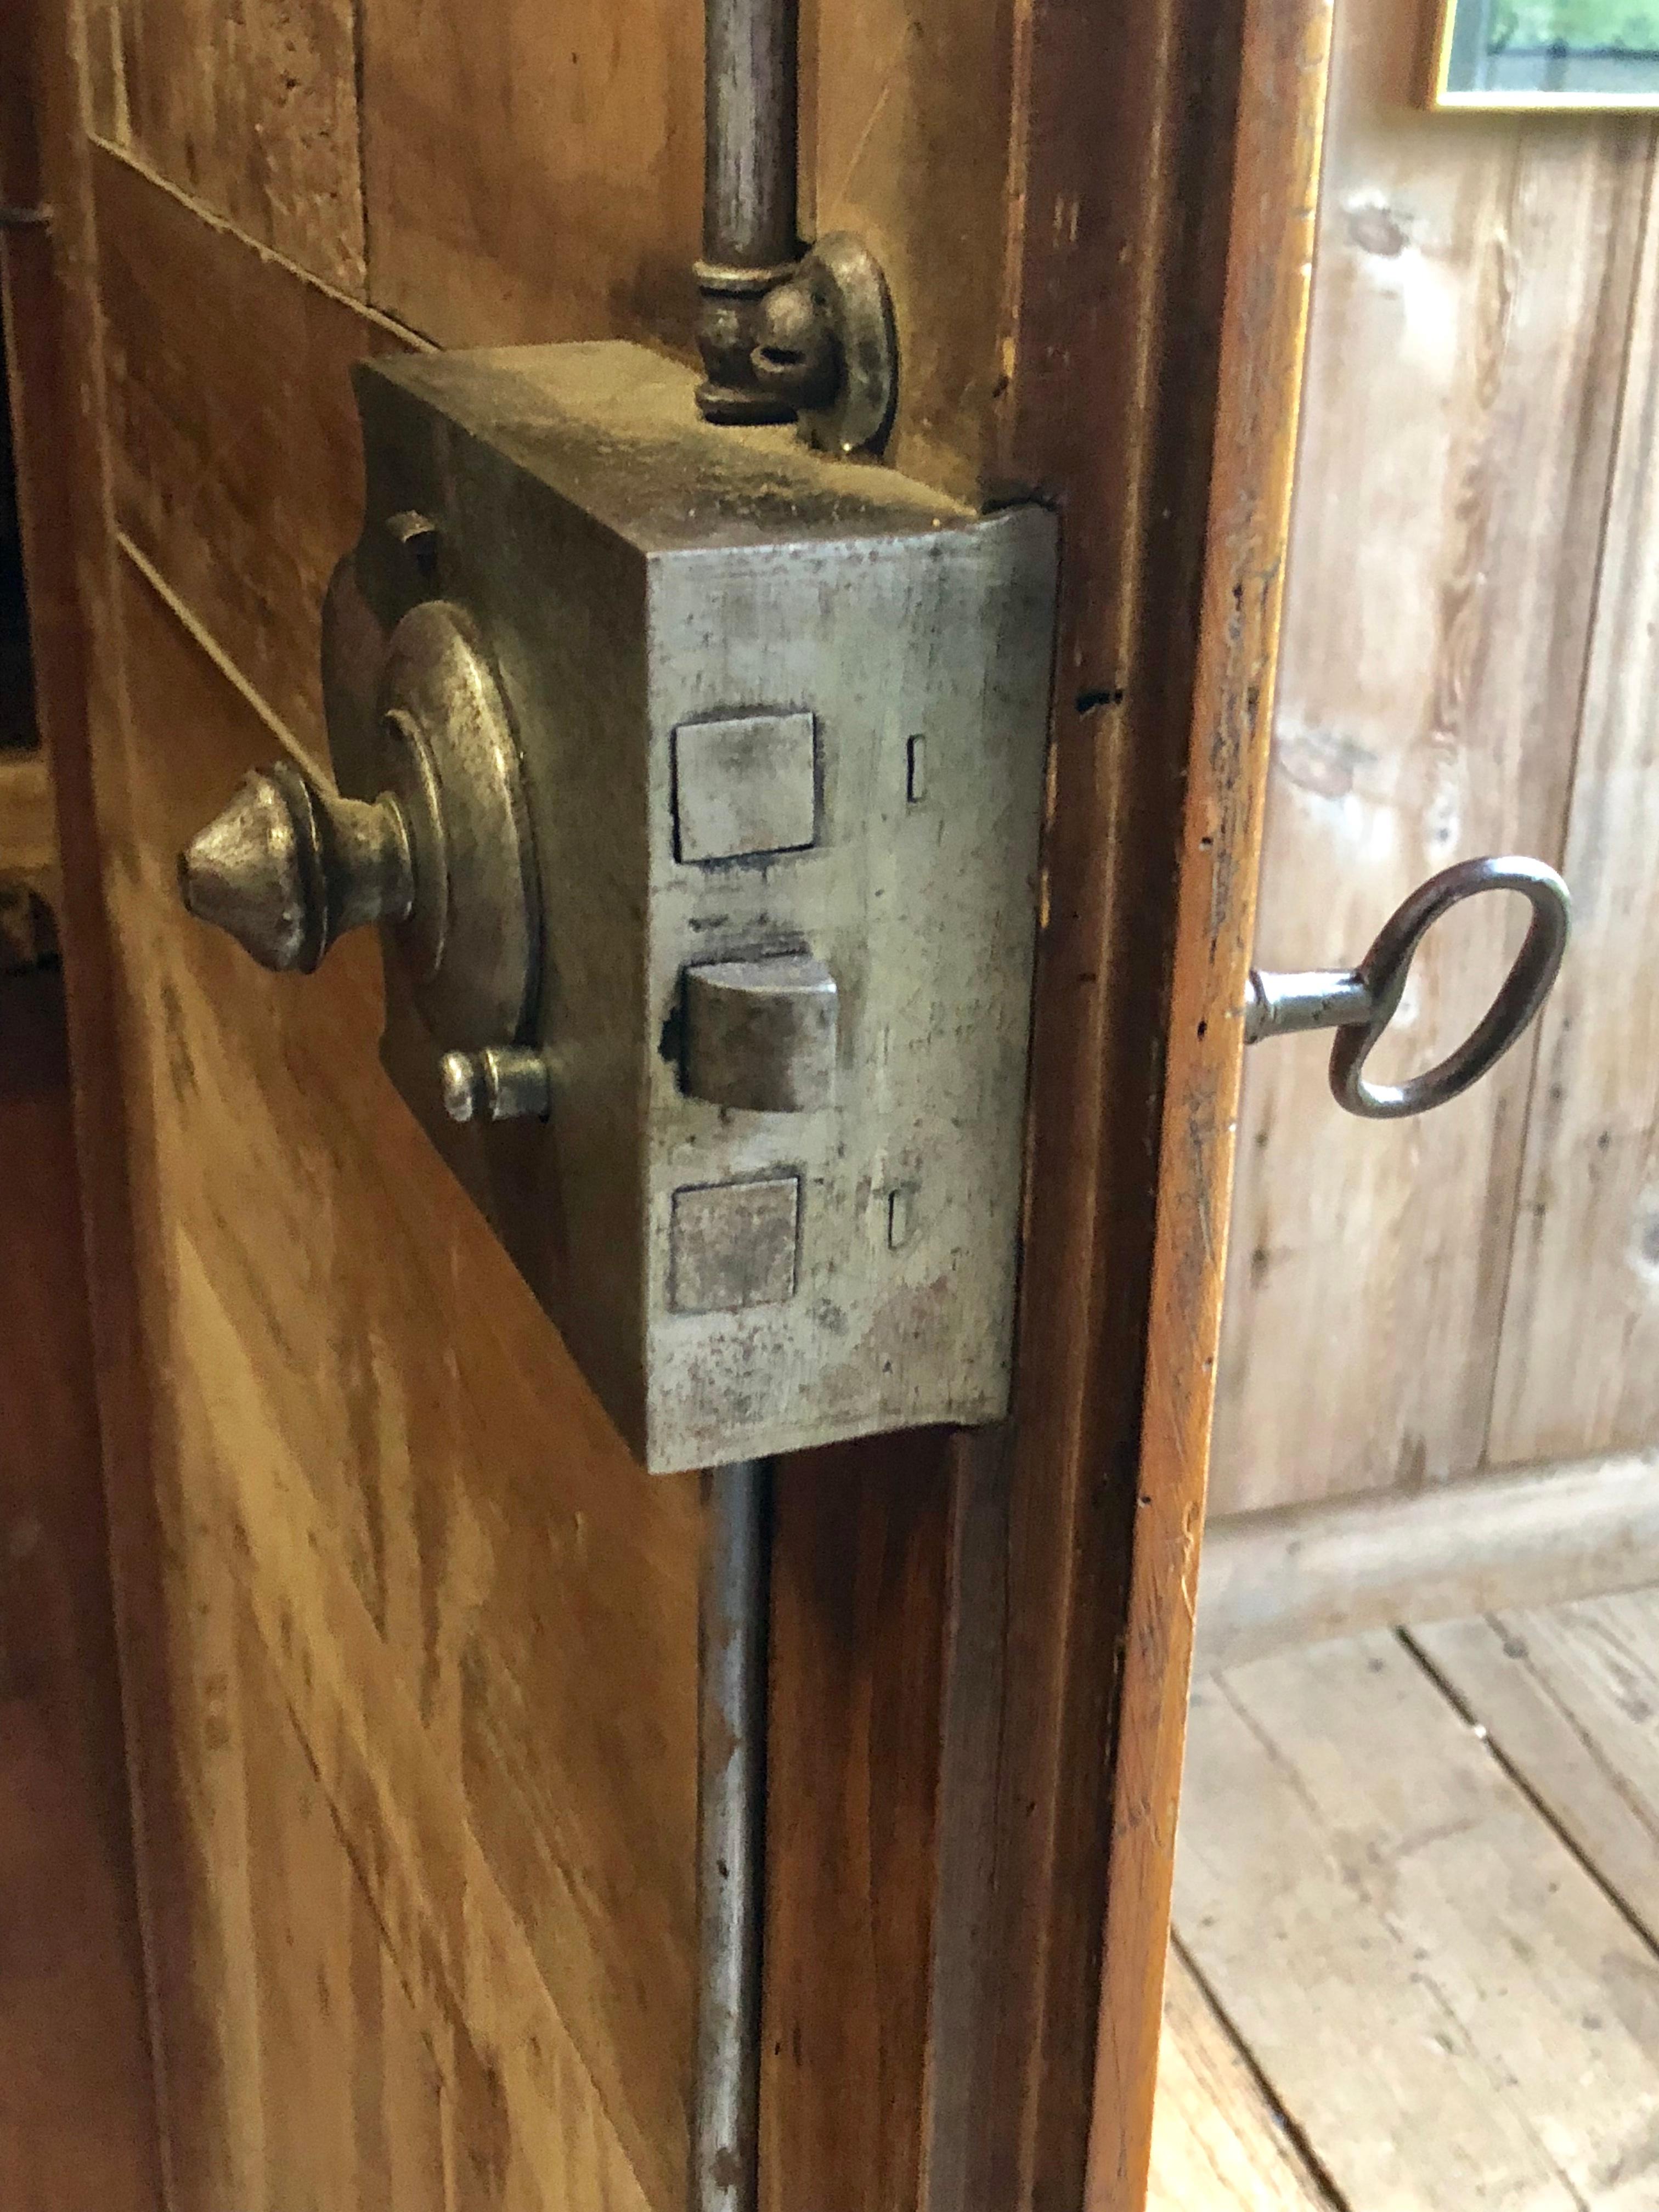
[[[365,0],[369,299],[440,345],[635,336],[695,347],[701,7]],[[807,7],[803,232],[880,259],[905,363],[891,458],[995,478],[1015,11]],[[303,259],[303,257],[296,257]]]

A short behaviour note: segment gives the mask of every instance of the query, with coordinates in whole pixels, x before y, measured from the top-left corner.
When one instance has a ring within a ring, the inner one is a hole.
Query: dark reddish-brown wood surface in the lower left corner
[[[0,978],[0,2201],[159,2212],[64,991]]]

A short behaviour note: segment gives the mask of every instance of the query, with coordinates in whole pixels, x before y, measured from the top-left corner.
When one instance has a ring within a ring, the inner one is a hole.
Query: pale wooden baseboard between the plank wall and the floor
[[[1214,1522],[1194,1668],[1659,1582],[1659,1451]]]

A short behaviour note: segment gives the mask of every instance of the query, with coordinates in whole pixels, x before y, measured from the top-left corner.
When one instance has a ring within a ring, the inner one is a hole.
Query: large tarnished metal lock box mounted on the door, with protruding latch
[[[655,1471],[1006,1409],[1055,602],[1042,509],[692,387],[363,365],[323,622],[385,1064]]]

